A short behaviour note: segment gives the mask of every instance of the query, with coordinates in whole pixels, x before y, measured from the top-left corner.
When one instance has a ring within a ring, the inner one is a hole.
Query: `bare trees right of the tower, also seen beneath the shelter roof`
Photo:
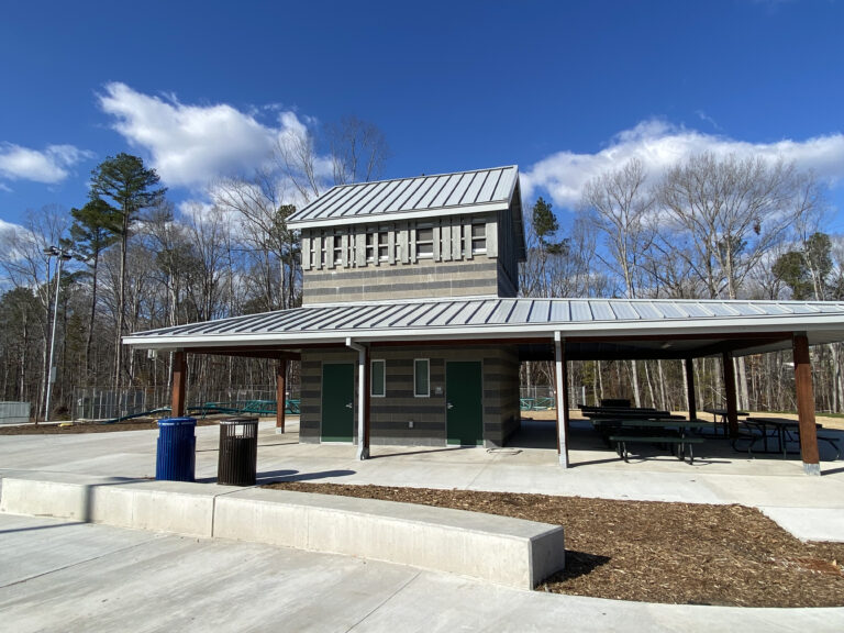
[[[591,179],[567,226],[543,198],[532,208],[526,296],[630,299],[844,298],[844,244],[822,231],[825,190],[785,160],[701,153],[663,175],[633,158]],[[844,407],[840,345],[814,349],[822,409]],[[789,352],[735,359],[738,407],[793,410]],[[722,407],[720,358],[696,359],[698,407]],[[548,382],[547,366],[523,384]],[[575,401],[630,397],[636,406],[686,409],[677,360],[575,363]]]

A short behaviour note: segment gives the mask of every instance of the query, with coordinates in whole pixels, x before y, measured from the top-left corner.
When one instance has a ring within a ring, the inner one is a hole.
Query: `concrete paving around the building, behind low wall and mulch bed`
[[[259,482],[298,479],[741,503],[759,508],[800,538],[844,541],[844,462],[824,462],[823,476],[809,477],[802,474],[799,460],[752,458],[723,443],[714,444],[715,448],[696,458],[693,465],[667,455],[625,464],[582,430],[576,427],[573,434],[580,447],[570,452],[574,467],[568,469],[557,465],[553,449],[532,447],[530,441],[513,449],[492,452],[373,446],[373,458],[359,462],[354,446],[299,444],[295,420],[286,434],[276,434],[271,423],[263,422]],[[154,477],[156,436],[155,430],[0,436],[0,477],[3,470]],[[215,426],[197,429],[198,479],[215,480],[218,438]]]

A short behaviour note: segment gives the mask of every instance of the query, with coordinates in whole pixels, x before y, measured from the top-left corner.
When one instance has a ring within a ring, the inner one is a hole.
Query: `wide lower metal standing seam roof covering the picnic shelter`
[[[296,345],[448,337],[637,336],[823,331],[844,341],[844,302],[658,299],[425,299],[315,304],[137,332],[140,347]]]

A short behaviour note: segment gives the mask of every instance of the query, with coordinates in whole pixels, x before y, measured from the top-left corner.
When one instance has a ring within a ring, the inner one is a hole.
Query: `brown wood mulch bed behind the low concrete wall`
[[[538,590],[685,604],[844,606],[844,544],[801,543],[743,506],[336,484],[267,487],[563,525],[566,570]]]

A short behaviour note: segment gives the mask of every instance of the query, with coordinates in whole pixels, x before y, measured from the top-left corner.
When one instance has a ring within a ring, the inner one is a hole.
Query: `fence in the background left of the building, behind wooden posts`
[[[299,389],[288,391],[288,398],[298,398]],[[230,403],[254,400],[276,400],[276,388],[271,387],[232,387],[226,389],[203,389],[193,385],[188,389],[189,407],[207,402]],[[113,420],[127,415],[137,415],[147,411],[170,406],[173,392],[167,387],[98,389],[96,387],[74,390],[74,420]]]

